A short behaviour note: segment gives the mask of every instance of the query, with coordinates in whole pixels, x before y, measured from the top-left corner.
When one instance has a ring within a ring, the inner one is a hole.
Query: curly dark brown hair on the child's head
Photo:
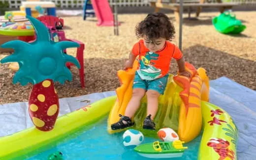
[[[171,41],[175,29],[165,14],[157,12],[148,14],[143,21],[138,23],[135,32],[137,38],[142,38],[145,35],[152,42],[160,37]]]

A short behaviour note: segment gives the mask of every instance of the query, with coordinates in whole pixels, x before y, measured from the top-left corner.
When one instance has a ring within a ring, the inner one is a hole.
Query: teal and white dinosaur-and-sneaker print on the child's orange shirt
[[[159,54],[147,52],[145,56],[141,56],[140,69],[137,71],[142,80],[155,80],[161,76],[161,70],[153,66],[151,60],[158,60]]]

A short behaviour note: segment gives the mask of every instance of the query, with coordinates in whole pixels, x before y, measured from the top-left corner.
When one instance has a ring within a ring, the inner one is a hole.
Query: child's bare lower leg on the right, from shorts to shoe
[[[147,116],[151,114],[151,119],[153,120],[158,111],[158,97],[160,93],[155,90],[148,90],[146,95],[148,101]]]

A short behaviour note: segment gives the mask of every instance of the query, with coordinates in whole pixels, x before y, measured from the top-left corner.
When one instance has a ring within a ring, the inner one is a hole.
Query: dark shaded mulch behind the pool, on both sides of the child
[[[212,48],[196,45],[183,51],[186,60],[196,68],[203,67],[211,80],[225,76],[242,85],[256,90],[256,62],[239,58]],[[95,92],[115,90],[120,86],[117,71],[122,69],[126,59],[85,59],[85,85],[81,88],[78,69],[73,67],[73,80],[64,85],[56,82],[59,98],[75,97]],[[177,64],[172,60],[171,72],[177,72]],[[0,104],[28,101],[32,84],[21,86],[12,84],[14,72],[8,64],[0,67]]]

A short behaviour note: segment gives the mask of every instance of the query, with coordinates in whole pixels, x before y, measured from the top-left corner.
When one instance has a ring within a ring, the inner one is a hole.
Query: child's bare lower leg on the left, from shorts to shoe
[[[125,116],[131,118],[140,106],[140,100],[145,95],[145,89],[134,88],[132,90],[132,97],[127,105]]]

